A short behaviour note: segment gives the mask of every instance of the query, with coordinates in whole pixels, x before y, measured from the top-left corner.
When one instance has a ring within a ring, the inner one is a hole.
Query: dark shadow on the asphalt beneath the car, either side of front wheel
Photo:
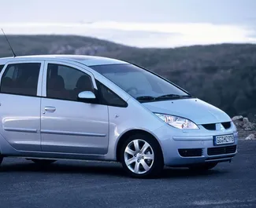
[[[120,163],[117,162],[55,162],[50,165],[40,166],[33,162],[12,162],[2,164],[1,173],[24,172],[24,173],[47,173],[51,174],[95,174],[113,177],[128,177]],[[210,175],[222,175],[228,173],[227,170],[219,170],[217,167],[208,171],[193,171],[187,168],[169,168],[165,167],[160,178],[183,178],[183,177],[209,177]]]

